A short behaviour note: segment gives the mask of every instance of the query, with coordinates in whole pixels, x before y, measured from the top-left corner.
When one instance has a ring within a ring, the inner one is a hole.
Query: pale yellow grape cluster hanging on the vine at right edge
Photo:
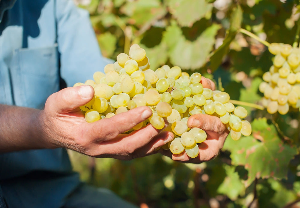
[[[262,105],[268,113],[285,115],[290,107],[300,107],[300,49],[283,43],[271,43],[268,49],[275,56],[259,85]]]

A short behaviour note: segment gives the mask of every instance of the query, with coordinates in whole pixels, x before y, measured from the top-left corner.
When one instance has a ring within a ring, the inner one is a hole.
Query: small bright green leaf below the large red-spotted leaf
[[[245,193],[245,186],[239,175],[235,172],[234,166],[223,165],[226,170],[226,177],[217,189],[218,193],[227,195],[231,200],[236,200],[238,195]]]

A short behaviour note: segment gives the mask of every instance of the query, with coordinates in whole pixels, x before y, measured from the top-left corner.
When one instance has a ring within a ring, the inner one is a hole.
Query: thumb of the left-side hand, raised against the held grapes
[[[50,95],[46,101],[45,109],[51,109],[57,113],[69,113],[82,106],[94,96],[94,89],[89,85],[67,87]]]

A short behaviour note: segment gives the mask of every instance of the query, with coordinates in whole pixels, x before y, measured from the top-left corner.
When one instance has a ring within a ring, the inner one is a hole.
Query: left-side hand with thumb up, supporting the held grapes
[[[65,147],[93,157],[129,160],[155,153],[174,135],[147,125],[122,134],[151,116],[149,107],[137,107],[111,118],[88,123],[79,106],[94,96],[91,86],[62,89],[49,96],[39,115],[48,148]]]

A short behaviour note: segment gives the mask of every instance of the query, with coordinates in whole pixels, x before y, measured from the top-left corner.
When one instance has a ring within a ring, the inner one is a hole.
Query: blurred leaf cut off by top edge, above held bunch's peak
[[[166,8],[158,0],[137,0],[130,1],[120,9],[121,12],[130,17],[129,23],[137,26],[155,23],[155,20],[167,14]]]

